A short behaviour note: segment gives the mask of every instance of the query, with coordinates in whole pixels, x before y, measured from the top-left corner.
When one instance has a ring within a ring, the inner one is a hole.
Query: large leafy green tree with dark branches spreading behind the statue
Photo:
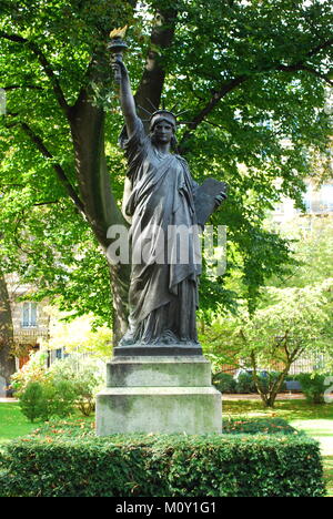
[[[193,176],[230,186],[212,220],[228,226],[228,267],[203,279],[204,304],[245,297],[253,308],[290,257],[265,213],[283,195],[302,205],[313,153],[329,146],[331,2],[0,0],[0,12],[3,269],[101,322],[111,318],[111,279],[113,322],[125,326],[129,269],[105,261],[107,230],[123,223],[125,175],[107,44],[128,23],[139,115],[161,96],[186,110],[178,140]]]

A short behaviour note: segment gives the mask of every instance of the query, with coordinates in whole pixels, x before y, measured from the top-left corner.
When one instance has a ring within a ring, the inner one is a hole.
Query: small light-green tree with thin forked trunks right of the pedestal
[[[332,279],[302,288],[268,287],[262,296],[261,307],[252,315],[242,307],[236,316],[216,318],[203,345],[215,364],[220,357],[220,365],[251,368],[252,377],[240,377],[238,390],[258,390],[263,403],[273,407],[301,355],[321,353],[332,362]],[[261,376],[262,369],[271,375]]]

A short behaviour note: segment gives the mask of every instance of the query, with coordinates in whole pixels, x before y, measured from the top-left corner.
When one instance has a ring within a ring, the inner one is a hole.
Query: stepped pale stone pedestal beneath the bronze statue
[[[120,356],[97,396],[97,435],[222,432],[222,398],[201,355]]]

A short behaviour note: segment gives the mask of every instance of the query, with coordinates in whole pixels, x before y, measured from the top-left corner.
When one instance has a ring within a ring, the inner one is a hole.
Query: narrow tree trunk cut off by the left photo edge
[[[6,279],[0,272],[0,396],[6,395],[6,387],[14,370],[11,308]]]

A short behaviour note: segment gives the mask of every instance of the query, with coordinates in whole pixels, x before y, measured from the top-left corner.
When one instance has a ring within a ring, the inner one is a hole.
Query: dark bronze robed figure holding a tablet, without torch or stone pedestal
[[[211,180],[213,185],[202,189],[193,181],[186,161],[175,153],[171,111],[154,111],[147,134],[119,52],[112,67],[125,121],[120,136],[128,160],[123,210],[131,220],[132,257],[139,258],[132,262],[129,329],[114,355],[198,355],[198,224],[205,223],[198,214],[209,217],[226,197],[225,184]],[[180,242],[185,260],[179,258]]]

